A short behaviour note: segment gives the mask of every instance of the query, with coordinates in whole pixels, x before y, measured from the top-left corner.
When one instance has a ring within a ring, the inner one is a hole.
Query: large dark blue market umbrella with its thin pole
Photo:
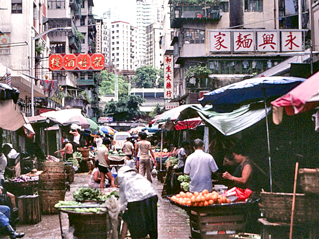
[[[239,106],[243,104],[263,101],[267,115],[267,101],[271,101],[279,96],[285,95],[305,80],[306,79],[304,78],[281,76],[251,78],[205,93],[204,97],[199,99],[199,101],[201,104],[211,104],[213,110],[216,112],[232,112],[234,109],[239,108]],[[270,190],[272,191],[270,140],[267,117],[266,128]]]

